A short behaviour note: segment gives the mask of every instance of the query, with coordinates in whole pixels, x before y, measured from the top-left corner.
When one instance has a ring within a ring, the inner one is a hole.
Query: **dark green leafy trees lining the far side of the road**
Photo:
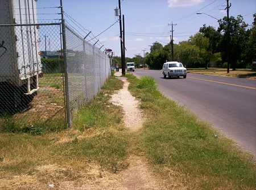
[[[256,60],[256,14],[253,16],[254,22],[251,25],[246,24],[241,15],[238,15],[237,18],[234,16],[229,18],[229,63],[233,70],[250,68],[251,63]],[[188,68],[205,67],[205,69],[214,61],[218,67],[225,68],[228,57],[227,17],[218,20],[218,23],[217,30],[204,24],[199,32],[187,41],[174,44],[174,61],[180,61]],[[162,69],[166,60],[172,60],[171,51],[171,42],[164,47],[155,42],[145,60],[143,57],[137,56],[133,59],[129,58],[129,61],[126,58],[126,61],[138,62],[138,58],[140,58],[151,69]]]

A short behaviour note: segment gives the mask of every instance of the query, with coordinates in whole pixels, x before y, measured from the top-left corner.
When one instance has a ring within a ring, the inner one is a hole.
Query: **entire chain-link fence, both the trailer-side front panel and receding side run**
[[[75,113],[111,75],[109,57],[65,29],[67,57],[61,23],[0,25],[0,132],[10,125],[14,131],[67,126],[67,110]]]

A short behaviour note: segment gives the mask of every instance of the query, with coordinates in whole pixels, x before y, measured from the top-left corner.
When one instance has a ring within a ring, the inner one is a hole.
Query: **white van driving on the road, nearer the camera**
[[[183,76],[185,79],[187,77],[187,69],[183,67],[182,63],[179,63],[177,61],[169,61],[163,64],[163,75],[164,78],[168,76],[169,79],[171,77],[180,77]]]

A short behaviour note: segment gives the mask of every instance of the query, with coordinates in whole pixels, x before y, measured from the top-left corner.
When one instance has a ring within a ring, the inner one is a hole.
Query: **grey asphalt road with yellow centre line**
[[[133,74],[154,77],[165,96],[256,155],[256,80],[191,73],[187,79],[164,79],[162,71],[148,69],[135,69]]]

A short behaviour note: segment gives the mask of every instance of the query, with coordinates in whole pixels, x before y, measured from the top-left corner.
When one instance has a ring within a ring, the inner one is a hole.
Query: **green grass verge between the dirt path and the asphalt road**
[[[154,79],[127,76],[148,117],[139,134],[141,148],[169,188],[176,187],[174,181],[188,189],[256,188],[252,155],[160,94]]]

